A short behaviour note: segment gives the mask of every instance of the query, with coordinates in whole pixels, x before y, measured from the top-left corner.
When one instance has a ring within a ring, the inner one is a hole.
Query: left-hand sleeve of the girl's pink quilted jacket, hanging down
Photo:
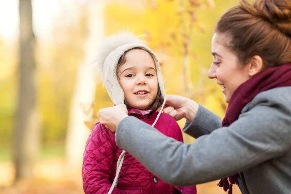
[[[97,123],[88,137],[83,154],[82,179],[85,194],[107,194],[112,183],[114,153],[108,130]],[[116,187],[113,194],[122,194]]]

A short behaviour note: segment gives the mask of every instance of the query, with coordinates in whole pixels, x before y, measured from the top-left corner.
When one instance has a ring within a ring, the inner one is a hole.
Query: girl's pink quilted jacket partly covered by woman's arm
[[[155,121],[158,113],[145,119],[141,114],[131,111],[149,125]],[[176,120],[162,113],[155,125],[163,134],[178,141],[183,141],[181,130]],[[137,137],[138,138],[138,137]],[[107,194],[116,173],[116,164],[122,149],[116,146],[115,133],[99,122],[88,137],[82,166],[83,189],[85,194]],[[170,169],[169,169],[170,170]],[[196,187],[174,187],[150,173],[129,153],[125,154],[119,174],[117,187],[113,194],[196,194]]]

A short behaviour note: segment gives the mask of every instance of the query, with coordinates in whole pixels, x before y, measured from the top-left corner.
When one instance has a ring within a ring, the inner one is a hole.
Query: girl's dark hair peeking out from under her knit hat
[[[153,56],[146,49],[143,49],[143,48],[133,48],[133,49],[145,50],[151,56],[151,58],[154,60]],[[129,49],[129,50],[127,50],[127,51],[125,51],[123,53],[123,55],[118,60],[117,69],[118,69],[118,66],[125,64],[125,62],[126,62],[126,54],[130,50],[133,50],[133,49]],[[116,75],[117,75],[117,72],[116,72]],[[160,89],[160,85],[158,84],[157,97],[154,99],[153,103],[149,107],[147,107],[145,110],[152,110],[151,113],[156,112],[162,106],[163,100],[164,100],[164,98],[162,97],[162,92],[161,92],[161,89]],[[128,109],[132,109],[132,107],[129,105],[129,103],[125,99],[124,99],[124,104],[127,106]]]

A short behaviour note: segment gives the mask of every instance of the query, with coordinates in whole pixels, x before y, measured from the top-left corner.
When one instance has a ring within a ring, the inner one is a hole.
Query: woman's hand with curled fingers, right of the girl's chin
[[[198,104],[189,98],[177,95],[167,95],[167,100],[163,109],[163,113],[170,114],[176,120],[186,118],[192,122],[198,111]]]

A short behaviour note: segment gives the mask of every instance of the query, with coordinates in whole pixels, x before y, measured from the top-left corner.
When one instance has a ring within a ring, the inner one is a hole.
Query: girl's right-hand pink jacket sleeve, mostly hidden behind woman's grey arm
[[[177,121],[172,117],[171,123],[169,125],[170,129],[174,130],[175,133],[177,133],[176,140],[179,142],[184,143],[182,131],[177,123]],[[179,187],[175,186],[175,188],[181,193],[181,194],[197,194],[196,186],[185,186],[185,187]]]

